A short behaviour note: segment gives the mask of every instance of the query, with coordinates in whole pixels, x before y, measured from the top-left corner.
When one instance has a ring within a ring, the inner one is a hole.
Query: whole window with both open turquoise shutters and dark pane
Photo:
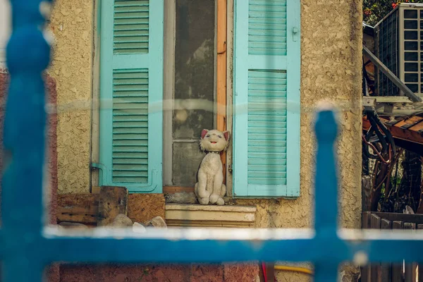
[[[235,0],[233,16],[234,195],[298,197],[300,4]],[[192,188],[216,128],[216,0],[104,0],[101,17],[100,185]]]

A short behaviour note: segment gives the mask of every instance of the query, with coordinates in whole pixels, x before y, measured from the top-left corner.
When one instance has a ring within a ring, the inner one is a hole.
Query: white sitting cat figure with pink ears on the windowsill
[[[223,166],[220,153],[228,147],[229,132],[203,129],[200,148],[206,152],[197,173],[195,195],[200,204],[225,204],[226,185],[223,184]]]

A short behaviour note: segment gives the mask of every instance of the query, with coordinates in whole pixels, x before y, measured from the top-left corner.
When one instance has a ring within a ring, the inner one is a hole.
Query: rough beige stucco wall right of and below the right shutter
[[[301,192],[297,200],[238,200],[257,204],[256,227],[312,227],[314,135],[310,110],[321,99],[341,102],[338,140],[342,226],[360,228],[362,1],[301,0]],[[278,273],[278,281],[308,281]]]

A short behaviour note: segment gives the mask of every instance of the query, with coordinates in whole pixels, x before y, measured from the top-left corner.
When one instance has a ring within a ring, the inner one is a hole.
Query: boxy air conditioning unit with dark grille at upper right
[[[423,96],[423,4],[399,4],[374,31],[376,56],[412,92]],[[401,95],[380,70],[376,86],[379,96]]]

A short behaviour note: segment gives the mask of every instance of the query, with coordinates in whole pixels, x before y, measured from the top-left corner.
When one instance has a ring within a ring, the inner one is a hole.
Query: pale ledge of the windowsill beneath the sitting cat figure
[[[238,227],[255,226],[253,206],[215,206],[200,204],[166,204],[169,227]]]

